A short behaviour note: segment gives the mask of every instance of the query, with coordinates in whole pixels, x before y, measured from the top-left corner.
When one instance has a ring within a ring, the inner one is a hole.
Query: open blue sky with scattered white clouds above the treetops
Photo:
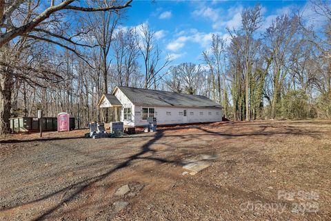
[[[122,26],[148,23],[156,32],[163,55],[172,55],[172,64],[201,64],[201,52],[210,46],[212,33],[228,38],[226,27],[239,28],[241,11],[260,3],[265,22],[263,32],[277,16],[300,10],[313,17],[306,1],[133,1]],[[259,34],[258,34],[259,35]]]

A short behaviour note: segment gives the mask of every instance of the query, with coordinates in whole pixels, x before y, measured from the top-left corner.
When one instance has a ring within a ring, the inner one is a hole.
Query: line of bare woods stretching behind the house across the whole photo
[[[322,31],[297,12],[261,33],[261,6],[247,8],[229,39],[212,35],[201,64],[178,65],[147,24],[121,26],[130,2],[0,0],[1,132],[38,109],[79,127],[104,120],[97,103],[116,85],[205,95],[235,120],[331,118],[327,2],[314,2]]]

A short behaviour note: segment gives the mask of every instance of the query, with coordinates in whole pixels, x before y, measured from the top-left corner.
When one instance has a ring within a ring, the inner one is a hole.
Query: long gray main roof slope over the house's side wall
[[[134,105],[221,108],[216,102],[201,95],[187,95],[163,90],[149,90],[124,86],[117,87]]]

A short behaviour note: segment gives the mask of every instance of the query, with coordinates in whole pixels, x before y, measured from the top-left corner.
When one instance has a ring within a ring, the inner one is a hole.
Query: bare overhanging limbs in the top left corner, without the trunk
[[[43,29],[43,23],[49,18],[50,21],[47,22],[59,22],[55,20],[52,21],[52,19],[54,19],[54,17],[52,16],[55,16],[57,12],[61,12],[64,10],[73,10],[81,12],[106,12],[129,7],[131,2],[132,0],[128,0],[126,1],[126,3],[117,4],[117,2],[110,1],[106,2],[105,6],[103,7],[99,7],[96,5],[92,5],[90,7],[83,7],[79,6],[78,0],[61,1],[61,3],[57,5],[54,4],[54,1],[50,1],[50,7],[40,12],[43,8],[43,4],[41,4],[41,1],[17,0],[6,3],[6,0],[0,0],[0,48],[15,37],[28,35],[28,33],[31,32],[48,32]],[[26,19],[20,20],[19,26],[14,26],[12,24],[12,21],[14,19],[13,16],[17,13],[21,14],[22,11],[24,13],[23,16],[25,16]],[[41,29],[39,29],[38,26],[41,26]],[[4,32],[3,28],[5,30]],[[72,39],[63,37],[62,35],[58,35],[56,33],[48,32],[48,34],[52,37],[65,39],[69,42],[72,41]],[[31,35],[30,37],[33,36]]]

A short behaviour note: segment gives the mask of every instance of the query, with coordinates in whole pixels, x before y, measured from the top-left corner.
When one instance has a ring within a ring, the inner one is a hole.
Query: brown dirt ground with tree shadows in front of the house
[[[331,220],[330,121],[84,133],[2,137],[0,220]],[[201,155],[217,159],[183,175]]]

